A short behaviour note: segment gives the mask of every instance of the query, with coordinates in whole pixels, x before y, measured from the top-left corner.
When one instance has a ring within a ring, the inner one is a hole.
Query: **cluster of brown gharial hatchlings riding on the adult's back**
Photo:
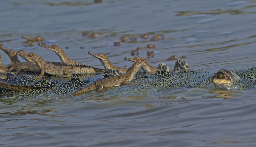
[[[42,40],[44,40],[44,38],[40,36],[37,36],[36,38],[22,36],[22,38],[28,39],[29,44],[34,41],[41,42]],[[102,62],[105,69],[100,69],[100,68],[91,67],[91,66],[82,64],[80,62],[77,62],[69,58],[67,54],[59,46],[56,46],[56,45],[46,46],[41,43],[38,43],[38,46],[42,46],[54,51],[60,57],[60,60],[62,62],[44,61],[39,55],[35,53],[32,53],[32,52],[27,53],[24,50],[19,50],[18,52],[16,52],[16,51],[13,51],[12,49],[4,49],[3,47],[0,46],[0,49],[9,56],[12,62],[11,67],[9,68],[5,67],[1,63],[1,56],[0,56],[0,74],[2,74],[0,75],[0,78],[6,79],[7,78],[6,73],[10,71],[14,71],[13,72],[14,74],[18,74],[20,71],[40,72],[40,74],[38,76],[35,76],[34,78],[41,78],[44,75],[44,73],[60,76],[60,77],[70,77],[73,74],[91,74],[91,73],[103,72],[105,70],[112,70],[112,69],[118,70],[121,74],[125,73],[124,75],[117,74],[118,76],[116,77],[115,75],[113,75],[114,77],[109,77],[107,79],[100,80],[99,82],[97,81],[94,84],[92,84],[92,86],[88,86],[84,89],[80,89],[75,93],[75,94],[79,94],[79,93],[84,93],[92,90],[101,90],[103,87],[108,88],[108,87],[120,86],[121,84],[127,84],[127,82],[133,79],[133,77],[138,72],[140,67],[142,67],[142,70],[144,71],[144,73],[156,72],[156,67],[152,67],[146,63],[146,61],[151,57],[153,57],[154,54],[150,54],[144,60],[141,59],[140,57],[134,57],[134,59],[125,58],[125,60],[130,60],[135,62],[132,65],[132,67],[130,67],[128,70],[127,68],[113,66],[103,53],[94,54],[94,53],[88,52],[90,55],[98,58]],[[21,56],[27,62],[20,62],[17,55]],[[109,82],[109,81],[115,81],[115,82]],[[3,84],[4,82],[1,81],[1,83]]]

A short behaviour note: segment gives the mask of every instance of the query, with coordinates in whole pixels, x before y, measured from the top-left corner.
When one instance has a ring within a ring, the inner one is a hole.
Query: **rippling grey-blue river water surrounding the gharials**
[[[255,65],[256,1],[232,0],[9,0],[0,5],[0,41],[46,61],[60,61],[40,46],[24,48],[22,35],[46,39],[68,56],[103,68],[92,53],[130,67],[132,50],[155,56],[148,63],[173,68],[186,55],[191,70],[243,69]],[[82,32],[108,32],[90,38]],[[163,34],[164,40],[128,42],[122,36]],[[95,46],[102,46],[95,48]],[[136,54],[135,54],[136,55]],[[10,64],[1,52],[2,63]],[[20,58],[20,60],[22,60]],[[112,89],[111,89],[112,90]],[[115,92],[115,90],[113,90]],[[256,146],[255,90],[156,88],[144,93],[45,96],[0,102],[2,146]]]

